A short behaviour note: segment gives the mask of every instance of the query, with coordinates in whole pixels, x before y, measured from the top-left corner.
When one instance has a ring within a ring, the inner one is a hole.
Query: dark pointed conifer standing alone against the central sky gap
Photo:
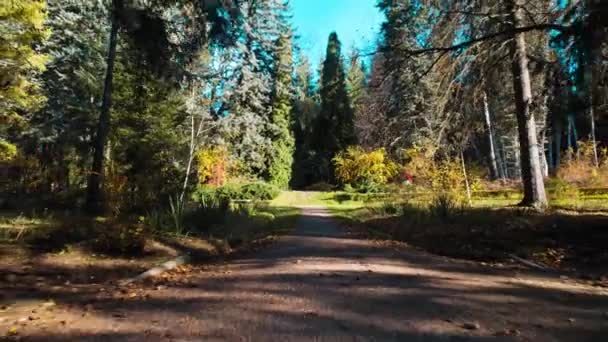
[[[314,147],[322,178],[331,181],[332,158],[356,143],[354,113],[348,98],[341,43],[335,32],[329,35],[320,93],[321,113],[317,119]]]

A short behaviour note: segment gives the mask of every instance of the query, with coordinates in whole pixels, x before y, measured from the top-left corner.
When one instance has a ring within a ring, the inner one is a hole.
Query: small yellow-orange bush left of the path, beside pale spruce
[[[198,151],[198,181],[201,185],[222,186],[228,174],[228,151],[221,147]]]

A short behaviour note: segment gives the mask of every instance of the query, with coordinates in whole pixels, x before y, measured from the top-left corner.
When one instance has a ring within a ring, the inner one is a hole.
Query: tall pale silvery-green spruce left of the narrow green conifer
[[[258,178],[269,173],[273,146],[272,93],[277,40],[289,31],[288,4],[280,0],[244,1],[236,44],[236,80],[228,99],[231,152],[241,171]]]

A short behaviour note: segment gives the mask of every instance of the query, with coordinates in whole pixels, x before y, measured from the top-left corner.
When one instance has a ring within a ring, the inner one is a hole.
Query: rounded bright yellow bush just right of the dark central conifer
[[[359,146],[351,146],[334,159],[336,178],[341,184],[358,187],[365,184],[386,184],[397,175],[399,167],[386,156],[381,148],[366,152]]]

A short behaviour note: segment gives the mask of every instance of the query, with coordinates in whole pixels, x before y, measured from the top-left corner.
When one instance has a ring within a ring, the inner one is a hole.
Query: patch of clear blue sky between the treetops
[[[292,0],[291,7],[299,46],[314,67],[325,55],[332,31],[344,54],[353,46],[371,50],[383,21],[376,0]]]

